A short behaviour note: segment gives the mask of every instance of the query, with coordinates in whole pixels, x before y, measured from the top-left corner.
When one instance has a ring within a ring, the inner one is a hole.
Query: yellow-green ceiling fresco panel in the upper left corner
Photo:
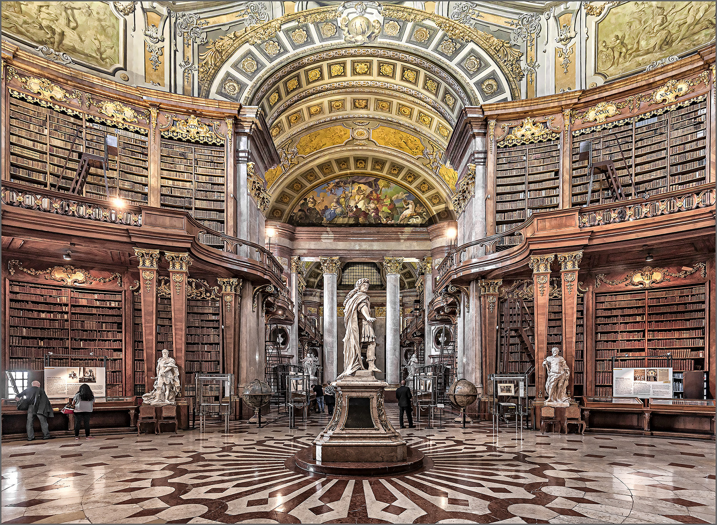
[[[3,2],[2,30],[87,64],[120,64],[120,19],[104,2]]]

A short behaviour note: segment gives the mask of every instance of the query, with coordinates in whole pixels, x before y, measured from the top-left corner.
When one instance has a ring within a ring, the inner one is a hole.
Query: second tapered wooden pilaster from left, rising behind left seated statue
[[[189,277],[191,258],[186,252],[165,251],[164,259],[169,263],[172,302],[172,340],[174,361],[179,368],[179,380],[186,384],[184,375],[184,350],[186,348],[186,279]],[[184,387],[180,390],[184,396]]]

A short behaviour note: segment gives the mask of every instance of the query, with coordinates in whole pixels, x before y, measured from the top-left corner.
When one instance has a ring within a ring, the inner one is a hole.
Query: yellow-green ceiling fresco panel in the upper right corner
[[[715,2],[626,2],[597,25],[597,72],[606,77],[714,40]]]

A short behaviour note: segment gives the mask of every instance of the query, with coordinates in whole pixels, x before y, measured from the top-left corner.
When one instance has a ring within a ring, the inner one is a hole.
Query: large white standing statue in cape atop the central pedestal
[[[343,300],[343,322],[346,324],[346,337],[343,338],[343,373],[336,379],[353,375],[357,370],[366,370],[361,359],[361,345],[366,343],[366,360],[369,372],[381,372],[376,368],[376,334],[371,317],[371,299],[369,279],[359,279],[353,290]]]

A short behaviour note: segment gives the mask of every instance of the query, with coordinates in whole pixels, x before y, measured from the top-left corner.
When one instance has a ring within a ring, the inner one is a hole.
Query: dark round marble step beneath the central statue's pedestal
[[[287,463],[294,463],[300,470],[310,474],[326,476],[371,477],[390,474],[404,474],[417,471],[424,466],[423,453],[416,448],[407,448],[406,461],[395,463],[318,463],[312,457],[312,448],[307,447],[294,454]]]

